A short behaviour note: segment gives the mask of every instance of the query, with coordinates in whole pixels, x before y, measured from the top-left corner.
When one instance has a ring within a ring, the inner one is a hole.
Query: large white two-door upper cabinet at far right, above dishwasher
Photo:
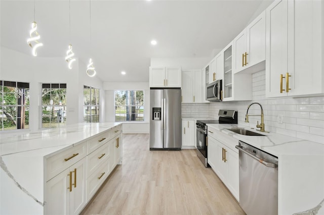
[[[266,96],[324,92],[323,1],[275,1],[266,9]]]

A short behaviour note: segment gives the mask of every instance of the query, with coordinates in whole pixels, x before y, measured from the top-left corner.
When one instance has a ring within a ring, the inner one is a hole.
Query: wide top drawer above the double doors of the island
[[[58,175],[72,166],[78,160],[86,156],[86,142],[80,143],[72,148],[66,149],[58,154],[47,158],[46,181]]]

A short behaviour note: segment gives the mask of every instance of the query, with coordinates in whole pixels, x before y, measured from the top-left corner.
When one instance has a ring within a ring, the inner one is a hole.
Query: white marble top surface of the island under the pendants
[[[13,132],[0,136],[0,156],[28,152],[29,156],[49,156],[121,123],[78,123],[37,132]]]

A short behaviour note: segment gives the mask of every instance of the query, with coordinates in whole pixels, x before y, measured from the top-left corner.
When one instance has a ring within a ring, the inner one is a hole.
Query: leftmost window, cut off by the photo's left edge
[[[0,80],[0,129],[29,128],[29,83]]]

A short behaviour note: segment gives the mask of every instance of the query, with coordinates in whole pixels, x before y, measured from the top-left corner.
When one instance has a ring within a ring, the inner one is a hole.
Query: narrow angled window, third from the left
[[[83,121],[86,123],[99,123],[99,89],[84,86]]]

